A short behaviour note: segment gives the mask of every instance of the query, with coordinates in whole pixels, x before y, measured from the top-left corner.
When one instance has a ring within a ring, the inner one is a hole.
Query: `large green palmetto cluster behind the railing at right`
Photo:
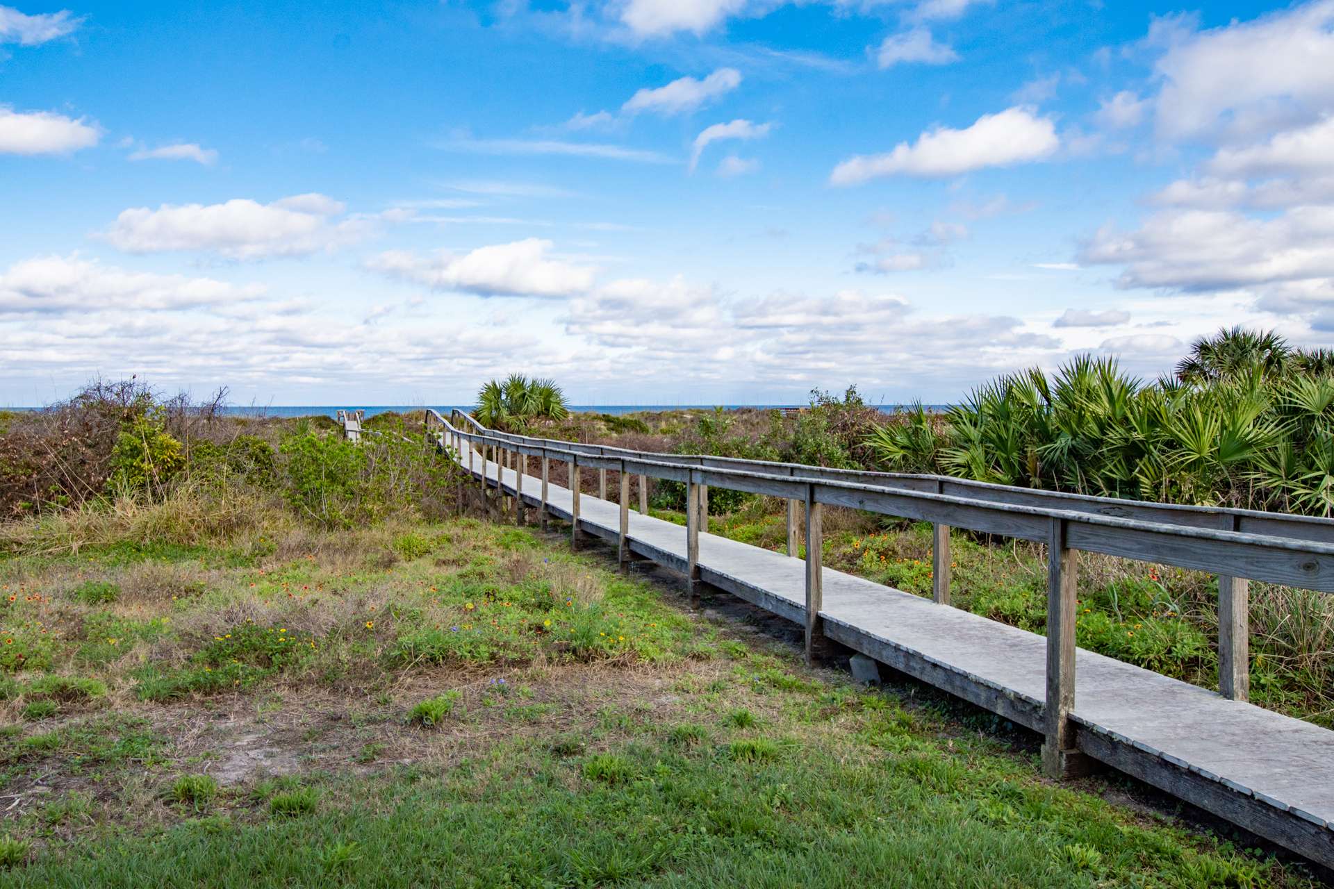
[[[1115,359],[1002,376],[944,417],[916,407],[867,443],[884,465],[1166,502],[1334,513],[1334,353],[1241,328],[1175,379]]]

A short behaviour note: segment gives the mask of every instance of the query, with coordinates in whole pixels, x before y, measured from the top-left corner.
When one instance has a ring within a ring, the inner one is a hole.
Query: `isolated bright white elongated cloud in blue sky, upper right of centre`
[[[936,127],[916,143],[899,143],[884,155],[858,155],[830,175],[835,185],[852,185],[878,176],[958,176],[986,167],[1011,167],[1045,160],[1061,147],[1057,125],[1031,108],[1014,107],[983,115],[964,129]]]

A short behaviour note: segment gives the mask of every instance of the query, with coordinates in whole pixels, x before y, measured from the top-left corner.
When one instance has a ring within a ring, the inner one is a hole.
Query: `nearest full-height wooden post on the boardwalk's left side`
[[[1086,774],[1093,761],[1075,748],[1075,582],[1078,553],[1066,545],[1066,520],[1051,518],[1047,541],[1047,701],[1042,770],[1049,778]]]

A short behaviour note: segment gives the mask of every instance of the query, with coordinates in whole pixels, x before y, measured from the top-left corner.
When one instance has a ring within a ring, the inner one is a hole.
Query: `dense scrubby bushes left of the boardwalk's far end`
[[[418,424],[384,417],[376,433],[352,444],[320,417],[225,416],[223,393],[192,405],[136,381],[99,383],[51,408],[7,415],[0,514],[55,517],[65,506],[119,500],[156,504],[169,521],[169,508],[187,501],[223,516],[235,504],[281,500],[317,525],[346,528],[403,509],[439,516],[455,505],[452,464]]]

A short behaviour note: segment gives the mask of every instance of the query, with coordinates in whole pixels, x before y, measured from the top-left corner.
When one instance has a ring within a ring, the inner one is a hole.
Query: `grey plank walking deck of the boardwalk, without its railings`
[[[460,457],[468,469],[468,461]],[[540,508],[542,478],[474,454],[468,472]],[[570,520],[574,497],[548,484],[546,509]],[[578,529],[620,538],[616,502],[579,497]],[[804,624],[806,561],[700,532],[699,580]],[[632,553],[690,568],[687,529],[628,512]],[[824,634],[894,669],[1042,732],[1046,637],[828,568]],[[1101,654],[1075,654],[1075,746],[1313,861],[1334,866],[1334,732]]]

